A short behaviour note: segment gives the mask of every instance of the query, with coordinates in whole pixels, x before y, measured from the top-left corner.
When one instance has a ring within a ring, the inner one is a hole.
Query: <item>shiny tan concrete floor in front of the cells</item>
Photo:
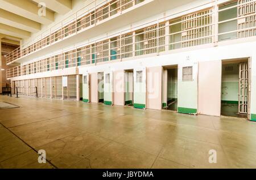
[[[0,96],[0,168],[256,168],[256,123]],[[37,152],[46,151],[47,164]],[[210,149],[217,163],[208,161]]]

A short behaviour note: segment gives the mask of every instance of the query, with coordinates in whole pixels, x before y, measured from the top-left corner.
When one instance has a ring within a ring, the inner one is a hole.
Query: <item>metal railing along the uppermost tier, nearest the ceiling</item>
[[[26,42],[13,52],[7,54],[6,62],[15,62],[17,59],[31,54],[36,50],[54,44],[55,42],[61,41],[71,35],[75,35],[82,29],[91,28],[102,20],[108,19],[115,14],[121,14],[122,11],[125,11],[143,1],[144,0],[113,0],[111,2],[104,1],[98,5],[96,5],[96,1],[93,1],[81,10],[35,37],[32,41]],[[89,10],[85,10],[87,8],[89,8]]]

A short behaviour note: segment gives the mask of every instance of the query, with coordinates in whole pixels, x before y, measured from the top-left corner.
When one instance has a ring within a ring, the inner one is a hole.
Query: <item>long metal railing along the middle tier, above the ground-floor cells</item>
[[[253,16],[256,20],[255,13],[226,20],[218,20],[217,17],[220,12],[250,5],[251,3],[254,3],[256,7],[256,0],[252,0],[228,7],[221,5],[221,9],[216,10],[216,1],[214,1],[210,4],[212,5],[211,7],[201,11],[175,19],[171,19],[171,16],[169,16],[169,20],[166,20],[168,18],[158,19],[135,27],[134,29],[138,29],[137,31],[129,32],[129,29],[127,29],[127,31],[77,46],[75,49],[70,49],[60,54],[52,54],[50,57],[40,59],[28,65],[11,68],[7,70],[7,78],[69,67],[97,65],[98,63],[108,61],[122,61],[125,58],[146,54],[159,54],[196,45],[216,44],[223,35],[228,35],[227,37],[229,37],[231,34],[230,39],[234,38],[234,36],[236,38],[243,38],[243,36],[240,36],[241,32],[256,32],[256,22],[250,25],[250,27],[238,28],[238,24],[241,23],[240,19]],[[237,23],[236,30],[218,31],[220,24],[234,21]],[[246,22],[246,20],[242,22]],[[251,33],[248,33],[248,35],[251,35]],[[253,36],[256,36],[256,33]],[[222,40],[226,40],[226,37]]]

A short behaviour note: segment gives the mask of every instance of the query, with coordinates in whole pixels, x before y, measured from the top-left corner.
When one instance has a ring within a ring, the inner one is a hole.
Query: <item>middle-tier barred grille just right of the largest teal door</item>
[[[121,40],[120,37],[117,37],[117,54],[121,54],[118,55],[118,59],[121,58],[129,58],[133,56],[133,33],[128,33],[126,35],[122,35],[121,36]],[[121,46],[121,48],[120,48]]]

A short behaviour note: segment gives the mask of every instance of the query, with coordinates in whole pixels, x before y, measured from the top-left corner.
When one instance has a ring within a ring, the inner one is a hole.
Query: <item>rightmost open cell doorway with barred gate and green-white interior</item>
[[[222,61],[221,115],[246,118],[250,111],[250,59]]]

